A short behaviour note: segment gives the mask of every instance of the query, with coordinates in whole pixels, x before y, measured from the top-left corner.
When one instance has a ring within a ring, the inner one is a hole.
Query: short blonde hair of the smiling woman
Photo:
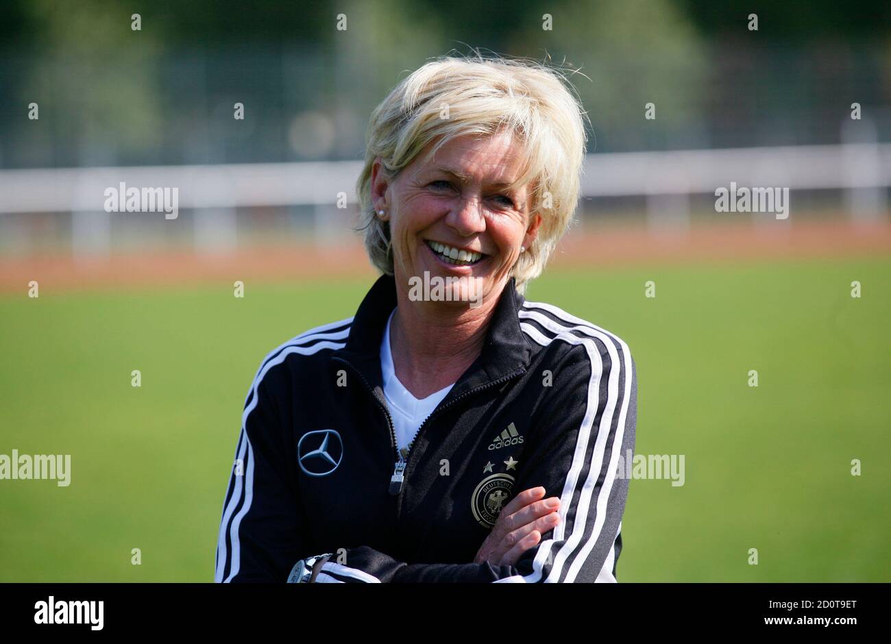
[[[586,114],[574,92],[560,69],[479,53],[446,55],[405,77],[372,112],[364,167],[356,183],[358,230],[364,231],[372,265],[393,273],[389,224],[375,216],[372,204],[374,159],[381,158],[381,169],[392,180],[437,138],[431,155],[456,136],[493,135],[506,129],[526,149],[516,185],[529,183],[529,216],[542,216],[535,241],[511,273],[524,292],[527,281],[544,270],[576,211],[587,137]]]

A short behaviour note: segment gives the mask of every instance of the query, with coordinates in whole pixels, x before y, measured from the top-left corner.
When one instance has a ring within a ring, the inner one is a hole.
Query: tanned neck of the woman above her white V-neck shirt
[[[483,304],[412,301],[396,293],[390,350],[396,378],[416,398],[426,398],[461,378],[483,349],[498,298]]]

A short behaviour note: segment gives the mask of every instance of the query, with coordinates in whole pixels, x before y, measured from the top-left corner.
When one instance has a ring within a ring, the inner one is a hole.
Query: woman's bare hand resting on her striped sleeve
[[[511,499],[499,513],[473,563],[488,561],[493,566],[513,566],[526,550],[535,548],[542,534],[559,526],[560,499],[542,499],[544,492],[544,487],[532,487]]]

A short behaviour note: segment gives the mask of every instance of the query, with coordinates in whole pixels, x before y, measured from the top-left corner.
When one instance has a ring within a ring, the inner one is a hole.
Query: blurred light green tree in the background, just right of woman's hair
[[[576,0],[551,8],[552,30],[543,30],[538,16],[515,36],[514,48],[537,46],[581,68],[584,77],[570,80],[593,124],[589,151],[660,148],[673,136],[701,136],[707,48],[671,0]],[[648,103],[655,120],[645,118]]]

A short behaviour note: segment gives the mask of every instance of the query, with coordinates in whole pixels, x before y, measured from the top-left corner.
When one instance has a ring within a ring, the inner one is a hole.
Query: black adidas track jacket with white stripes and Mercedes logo
[[[614,582],[634,450],[634,361],[621,339],[503,291],[482,354],[421,425],[405,461],[382,391],[396,306],[381,276],[356,316],[266,356],[241,416],[217,582],[284,582],[334,553],[316,583]],[[447,346],[448,338],[443,338]],[[560,525],[515,566],[473,561],[498,511],[530,487]]]

